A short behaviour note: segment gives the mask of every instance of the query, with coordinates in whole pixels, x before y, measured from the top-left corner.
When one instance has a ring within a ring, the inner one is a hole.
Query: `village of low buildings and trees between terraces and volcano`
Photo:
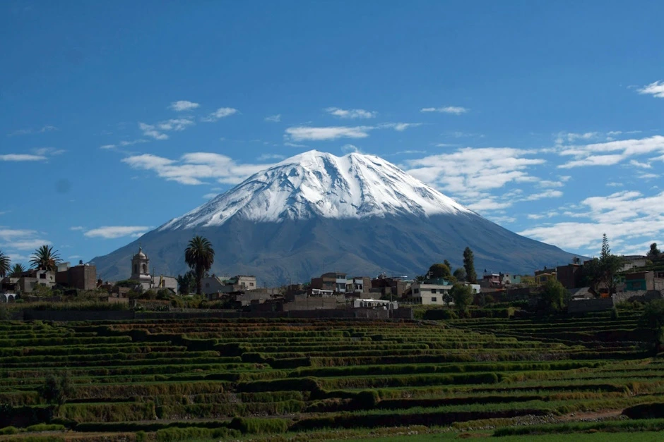
[[[455,283],[468,288],[469,305],[485,307],[518,303],[531,309],[545,308],[543,290],[557,281],[566,290],[564,307],[569,313],[610,310],[619,302],[659,299],[664,293],[664,257],[661,254],[617,257],[613,287],[589,283],[584,266],[575,258],[569,264],[545,267],[532,275],[485,271],[475,281],[456,281],[449,272],[434,274],[434,264],[423,276],[351,276],[331,271],[304,283],[261,287],[252,275],[206,275],[201,279],[201,295],[207,308],[239,309],[246,312],[297,312],[331,309],[380,309],[389,314],[403,307],[454,307],[451,292]],[[29,269],[0,280],[0,302],[71,302],[88,300],[125,306],[127,309],[182,307],[174,299],[191,297],[191,278],[150,273],[150,258],[139,247],[127,263],[131,276],[126,281],[103,281],[94,264],[60,262],[54,270]],[[186,275],[185,275],[186,276]],[[27,306],[26,306],[27,307]],[[121,307],[121,308],[125,308]],[[201,305],[198,306],[202,307]],[[403,312],[405,314],[405,312]]]

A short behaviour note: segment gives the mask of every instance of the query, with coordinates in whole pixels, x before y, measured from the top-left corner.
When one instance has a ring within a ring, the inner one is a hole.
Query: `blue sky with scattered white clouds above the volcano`
[[[309,149],[566,250],[664,242],[658,1],[0,3],[0,250],[89,260]]]

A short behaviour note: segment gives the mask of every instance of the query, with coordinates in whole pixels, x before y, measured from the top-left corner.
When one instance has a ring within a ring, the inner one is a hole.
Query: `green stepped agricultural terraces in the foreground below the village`
[[[663,440],[640,314],[4,321],[0,440]]]

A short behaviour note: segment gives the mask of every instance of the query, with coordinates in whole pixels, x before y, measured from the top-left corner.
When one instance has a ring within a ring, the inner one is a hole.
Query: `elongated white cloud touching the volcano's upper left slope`
[[[179,160],[153,154],[129,156],[121,160],[132,168],[154,171],[161,178],[186,185],[203,184],[207,178],[219,183],[242,183],[247,177],[271,164],[237,164],[229,156],[209,152],[184,154]]]

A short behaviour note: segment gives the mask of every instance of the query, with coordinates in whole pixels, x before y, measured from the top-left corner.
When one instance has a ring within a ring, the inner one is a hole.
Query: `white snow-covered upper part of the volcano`
[[[467,212],[466,207],[379,156],[334,156],[313,150],[254,174],[160,230],[220,226],[232,216],[283,221],[312,216],[359,219]]]

